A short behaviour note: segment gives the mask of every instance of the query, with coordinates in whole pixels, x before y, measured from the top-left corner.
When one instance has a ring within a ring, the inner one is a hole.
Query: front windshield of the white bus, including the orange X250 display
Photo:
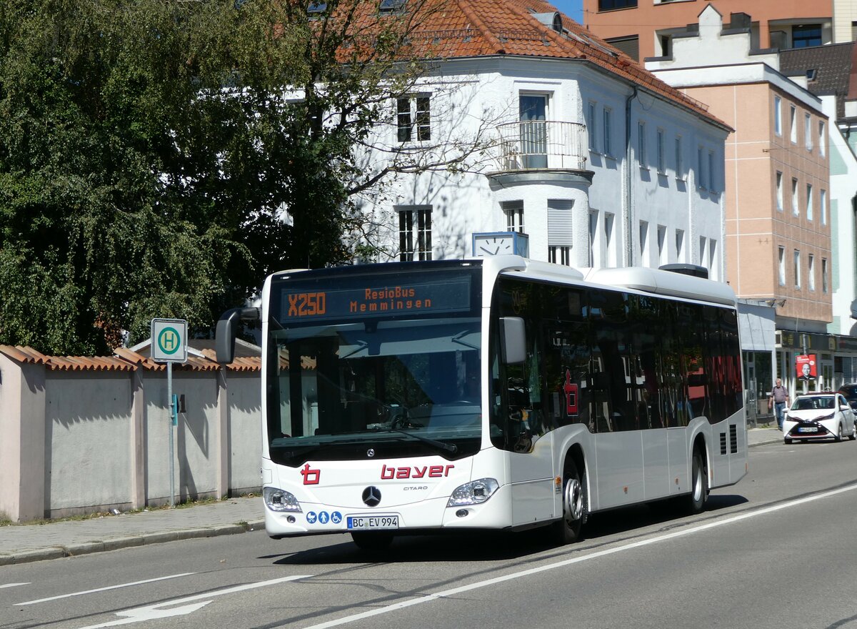
[[[478,287],[472,269],[296,275],[273,287],[272,460],[294,467],[310,459],[364,458],[370,448],[380,458],[454,459],[478,451]],[[311,312],[300,314],[301,305]]]

